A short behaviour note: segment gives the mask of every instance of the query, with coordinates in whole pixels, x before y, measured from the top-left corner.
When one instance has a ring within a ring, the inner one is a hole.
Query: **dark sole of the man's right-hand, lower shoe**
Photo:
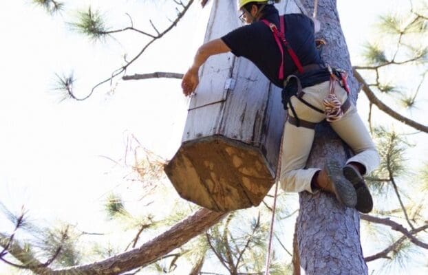
[[[370,190],[365,184],[363,177],[352,166],[343,167],[343,175],[351,182],[356,192],[356,210],[362,213],[368,213],[373,209],[373,199]]]

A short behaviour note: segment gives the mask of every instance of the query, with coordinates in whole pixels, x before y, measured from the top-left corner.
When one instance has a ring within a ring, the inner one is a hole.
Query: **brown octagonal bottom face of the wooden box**
[[[182,198],[229,211],[264,199],[275,179],[264,162],[257,148],[217,135],[184,144],[165,172]]]

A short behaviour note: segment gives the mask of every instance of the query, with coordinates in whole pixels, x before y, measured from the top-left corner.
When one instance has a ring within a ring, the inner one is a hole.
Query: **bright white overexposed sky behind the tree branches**
[[[91,43],[67,30],[63,21],[70,21],[73,12],[50,17],[29,2],[0,4],[0,201],[10,210],[24,204],[32,219],[63,219],[78,223],[82,230],[102,231],[105,195],[129,187],[125,184],[133,188],[133,183],[124,183],[122,170],[116,173],[114,163],[100,155],[122,158],[127,133],[132,133],[147,148],[170,158],[180,145],[189,100],[182,96],[178,80],[145,80],[119,82],[114,94],[108,94],[110,87],[104,85],[85,102],[58,103],[51,90],[54,73],[74,71],[76,91],[83,96],[122,64],[124,52],[130,58],[144,41],[138,35],[120,34],[108,45]],[[102,6],[109,24],[121,27],[128,24],[124,14],[131,10],[134,25],[145,30],[155,18],[152,14],[162,10],[162,4],[142,8],[139,1],[116,2],[73,1],[71,10],[88,3],[93,10]],[[339,1],[353,57],[376,15],[404,2]],[[193,5],[176,31],[155,43],[128,74],[183,73],[202,42],[207,12]],[[165,19],[155,23],[161,20]],[[0,218],[1,231],[8,230],[10,225],[5,224]],[[4,268],[0,263],[0,273]]]

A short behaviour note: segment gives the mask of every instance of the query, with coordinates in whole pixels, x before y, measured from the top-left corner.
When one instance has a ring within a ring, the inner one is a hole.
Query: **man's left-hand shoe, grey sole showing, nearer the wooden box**
[[[321,190],[334,194],[336,199],[345,206],[352,208],[356,206],[354,186],[343,176],[339,162],[329,160],[320,171],[317,184]]]

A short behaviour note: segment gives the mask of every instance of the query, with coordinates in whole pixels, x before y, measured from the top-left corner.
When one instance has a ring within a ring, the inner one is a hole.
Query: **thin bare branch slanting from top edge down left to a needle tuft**
[[[127,61],[127,63],[125,65],[123,65],[122,67],[116,69],[114,72],[111,73],[111,76],[103,81],[101,81],[100,83],[98,83],[97,85],[95,85],[94,87],[92,87],[92,90],[89,92],[89,94],[87,94],[87,96],[83,97],[83,98],[76,98],[75,96],[72,96],[72,98],[74,98],[75,100],[78,101],[82,101],[82,100],[86,100],[87,98],[89,98],[90,96],[92,96],[92,94],[94,94],[94,91],[96,88],[100,87],[100,85],[103,85],[104,83],[110,82],[112,83],[114,78],[116,78],[116,76],[122,74],[123,72],[126,72],[127,68],[134,63],[138,58],[140,58],[140,56],[147,50],[147,48],[155,41],[157,41],[158,39],[161,39],[165,34],[167,34],[169,31],[171,31],[177,24],[178,22],[182,19],[182,17],[184,17],[184,14],[186,14],[186,12],[189,10],[190,6],[192,5],[194,0],[189,0],[189,2],[187,2],[186,5],[182,5],[183,6],[183,10],[181,12],[178,12],[178,16],[177,18],[171,23],[171,25],[169,25],[168,28],[166,28],[163,32],[160,32],[157,36],[154,36],[153,39],[151,39],[151,41],[149,41],[144,47],[142,47],[142,50],[140,50],[140,52],[138,54],[136,54],[136,56],[134,56],[131,61]]]

